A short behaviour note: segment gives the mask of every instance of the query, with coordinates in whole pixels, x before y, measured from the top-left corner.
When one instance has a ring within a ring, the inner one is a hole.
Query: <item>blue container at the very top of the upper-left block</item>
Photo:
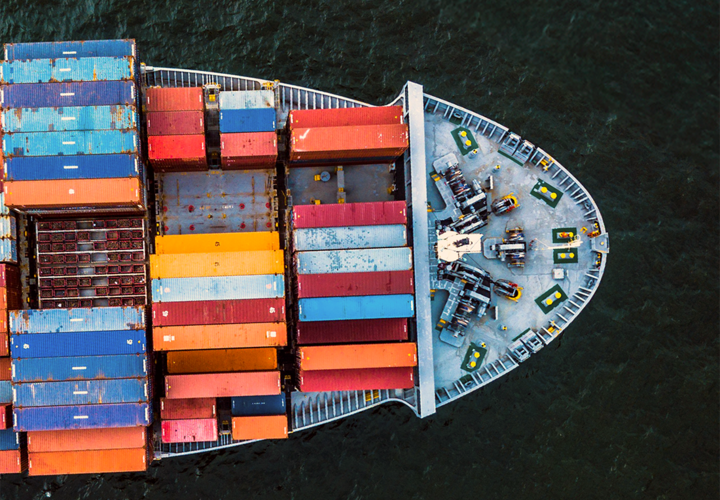
[[[5,59],[58,59],[61,57],[136,57],[135,40],[6,43]]]

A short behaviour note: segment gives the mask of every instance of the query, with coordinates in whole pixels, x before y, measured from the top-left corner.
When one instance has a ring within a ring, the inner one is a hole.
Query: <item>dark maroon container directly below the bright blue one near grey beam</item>
[[[300,345],[353,344],[407,340],[407,319],[359,319],[298,323]]]

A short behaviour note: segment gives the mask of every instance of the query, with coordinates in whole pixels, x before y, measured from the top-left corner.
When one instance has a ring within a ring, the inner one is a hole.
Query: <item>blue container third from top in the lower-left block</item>
[[[12,361],[12,379],[16,384],[20,382],[145,378],[147,375],[148,366],[145,354],[25,358]]]

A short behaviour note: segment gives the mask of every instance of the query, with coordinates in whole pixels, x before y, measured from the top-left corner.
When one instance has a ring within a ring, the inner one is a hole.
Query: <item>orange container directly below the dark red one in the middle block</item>
[[[232,349],[287,345],[285,323],[191,325],[153,328],[155,351]]]

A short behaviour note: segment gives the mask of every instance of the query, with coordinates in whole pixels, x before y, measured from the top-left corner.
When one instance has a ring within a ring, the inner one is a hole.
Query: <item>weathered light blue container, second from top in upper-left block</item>
[[[132,80],[132,57],[12,60],[0,63],[0,83],[52,83]]]

